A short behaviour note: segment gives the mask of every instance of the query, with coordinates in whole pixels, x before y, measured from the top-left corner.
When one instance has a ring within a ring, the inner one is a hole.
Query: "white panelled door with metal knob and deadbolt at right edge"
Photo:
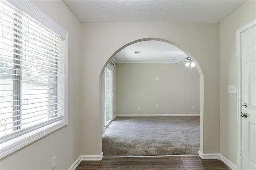
[[[242,169],[256,170],[256,26],[241,33]],[[246,117],[247,116],[247,117]]]

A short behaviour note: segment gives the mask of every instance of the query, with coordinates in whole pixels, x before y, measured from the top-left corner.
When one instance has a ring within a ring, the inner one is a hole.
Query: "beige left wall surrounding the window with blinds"
[[[1,170],[54,170],[70,168],[80,152],[81,24],[62,1],[32,1],[37,8],[69,33],[68,126],[1,159]]]

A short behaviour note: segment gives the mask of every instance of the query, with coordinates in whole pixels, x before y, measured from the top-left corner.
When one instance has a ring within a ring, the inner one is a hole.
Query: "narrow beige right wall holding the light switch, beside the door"
[[[237,165],[236,30],[256,19],[256,1],[248,1],[220,23],[220,153]]]

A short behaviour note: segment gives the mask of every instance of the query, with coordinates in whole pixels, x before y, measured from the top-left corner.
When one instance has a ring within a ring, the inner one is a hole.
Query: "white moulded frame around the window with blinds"
[[[64,117],[63,119],[46,125],[41,128],[36,128],[31,132],[23,134],[21,136],[15,137],[11,140],[3,142],[0,144],[0,159],[5,156],[31,144],[32,142],[68,125],[68,32],[54,22],[51,18],[46,16],[33,4],[27,0],[22,1],[8,1],[10,4],[21,10],[22,12],[28,14],[30,17],[34,18],[37,22],[40,22],[56,34],[65,38],[64,47]]]

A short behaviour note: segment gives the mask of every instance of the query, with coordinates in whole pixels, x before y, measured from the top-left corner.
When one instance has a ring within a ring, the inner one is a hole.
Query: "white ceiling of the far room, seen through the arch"
[[[135,54],[140,51],[140,54]],[[160,41],[144,41],[134,43],[122,49],[114,56],[116,63],[178,63],[172,59],[186,59],[179,48]]]

